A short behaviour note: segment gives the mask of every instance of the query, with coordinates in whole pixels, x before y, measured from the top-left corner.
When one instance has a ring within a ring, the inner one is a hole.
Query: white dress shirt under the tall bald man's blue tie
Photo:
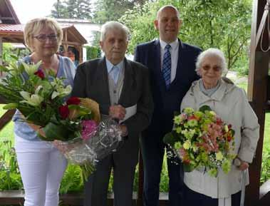
[[[160,39],[160,59],[161,59],[161,69],[162,69],[162,63],[163,63],[163,58],[164,58],[164,53],[165,53],[165,46],[168,43],[165,41],[162,41]],[[171,48],[170,48],[170,53],[171,53],[171,60],[172,60],[172,67],[171,67],[171,83],[172,81],[175,80],[176,76],[176,69],[177,69],[177,62],[178,62],[178,51],[179,51],[179,41],[176,39],[172,43],[169,43]]]

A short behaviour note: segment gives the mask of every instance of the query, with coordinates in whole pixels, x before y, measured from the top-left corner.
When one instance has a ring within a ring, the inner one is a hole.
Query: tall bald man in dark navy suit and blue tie
[[[135,49],[135,61],[144,64],[150,70],[155,103],[152,122],[141,139],[145,206],[159,205],[160,173],[166,148],[162,139],[172,130],[174,112],[180,111],[182,98],[192,81],[199,78],[194,70],[196,58],[201,50],[182,43],[177,38],[181,23],[179,11],[174,6],[163,6],[157,11],[157,19],[154,22],[160,39],[142,43]],[[180,206],[182,166],[170,160],[167,161],[167,165],[170,178],[169,205]]]

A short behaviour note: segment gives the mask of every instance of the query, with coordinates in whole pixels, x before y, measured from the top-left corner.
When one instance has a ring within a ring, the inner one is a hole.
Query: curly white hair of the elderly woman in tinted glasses
[[[202,61],[204,61],[204,58],[207,58],[209,56],[215,56],[219,58],[222,61],[220,65],[222,69],[222,74],[227,73],[228,68],[227,68],[227,63],[226,63],[226,58],[224,56],[224,53],[218,48],[208,48],[207,50],[200,53],[199,56],[197,57],[195,71],[197,72],[199,76],[200,76],[199,69],[202,67]]]

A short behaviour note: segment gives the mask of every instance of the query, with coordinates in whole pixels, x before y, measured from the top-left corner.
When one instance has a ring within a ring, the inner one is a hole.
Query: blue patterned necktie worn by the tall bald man
[[[165,53],[163,57],[163,65],[162,65],[162,75],[165,80],[166,88],[168,89],[171,83],[171,67],[172,67],[172,60],[171,60],[171,53],[170,53],[170,44],[165,46]]]

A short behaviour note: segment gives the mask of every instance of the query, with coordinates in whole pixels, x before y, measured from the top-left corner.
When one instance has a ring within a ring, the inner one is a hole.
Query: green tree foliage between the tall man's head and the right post
[[[251,1],[190,0],[182,9],[182,38],[203,49],[218,47],[227,56],[228,68],[246,56],[250,38]]]

